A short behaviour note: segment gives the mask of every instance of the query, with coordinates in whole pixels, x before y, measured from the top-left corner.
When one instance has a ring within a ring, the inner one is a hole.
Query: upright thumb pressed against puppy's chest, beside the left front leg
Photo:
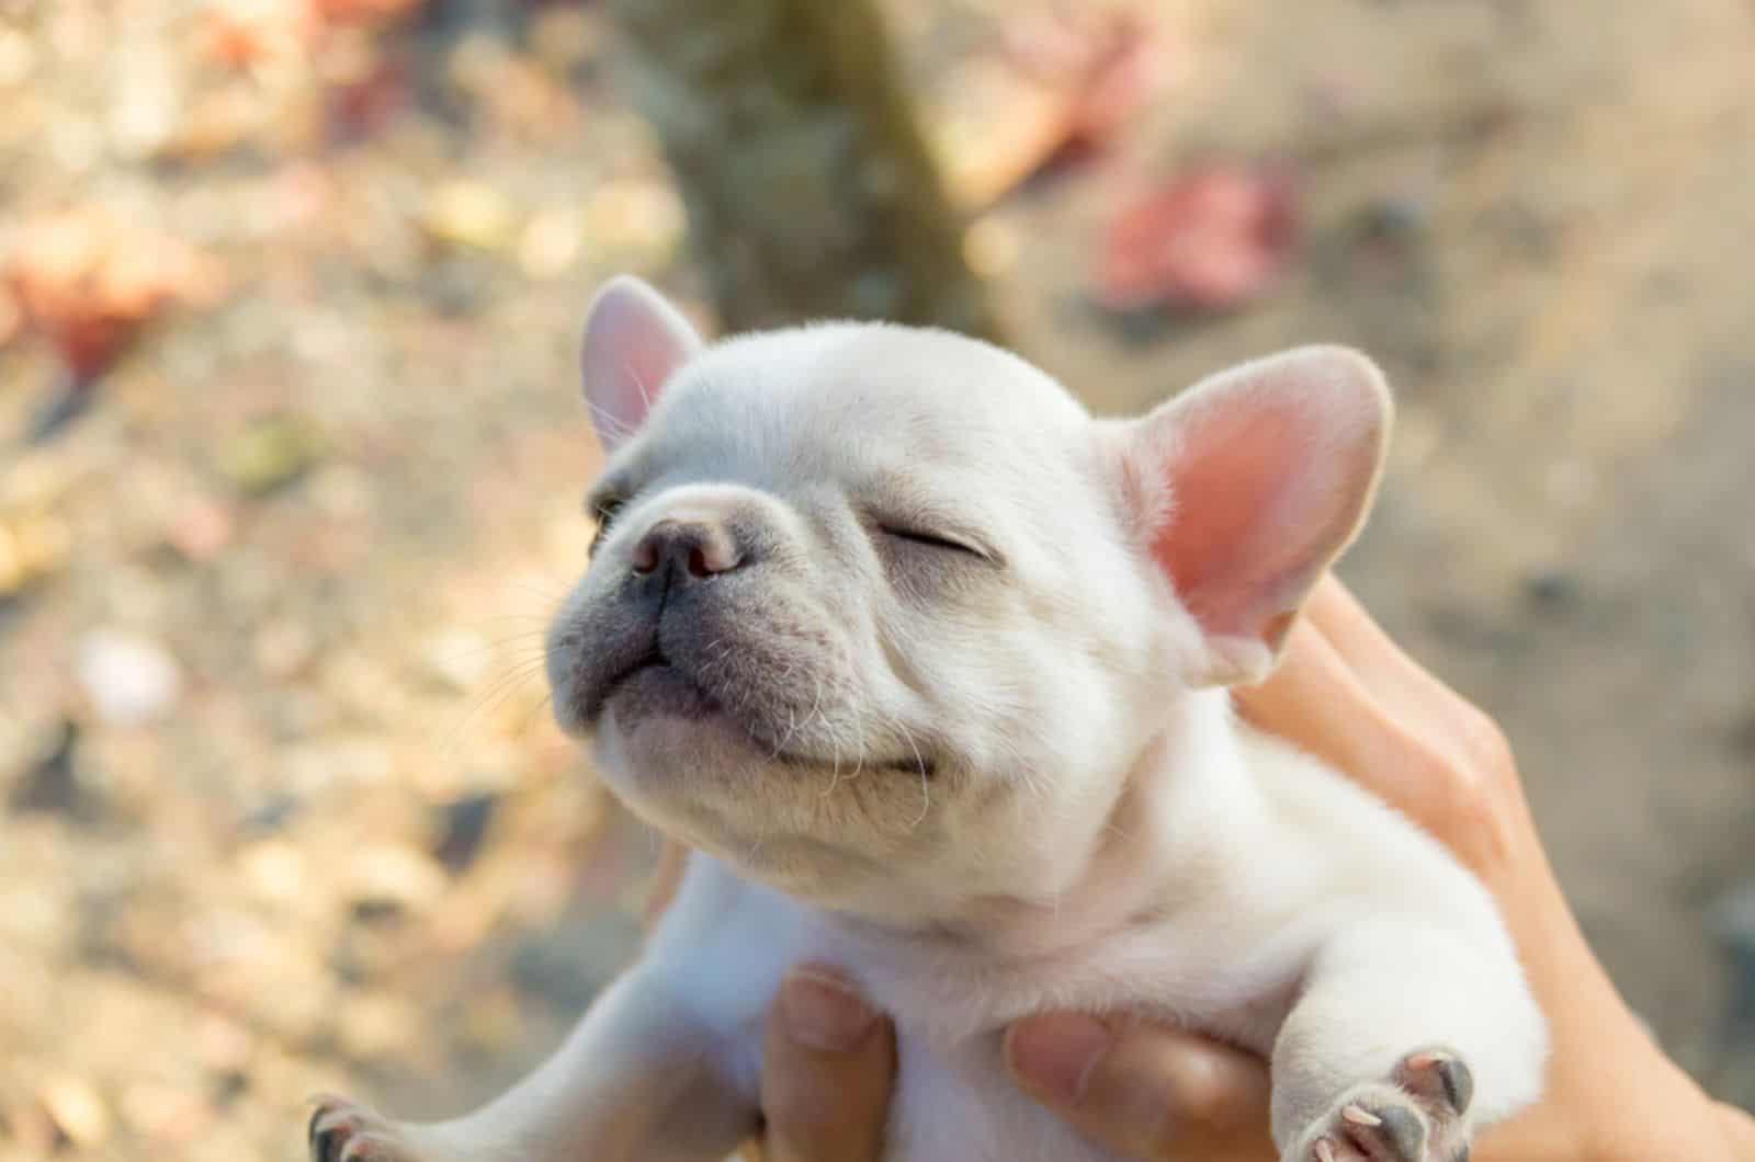
[[[878,1162],[895,1034],[827,965],[781,981],[762,1043],[767,1162]]]

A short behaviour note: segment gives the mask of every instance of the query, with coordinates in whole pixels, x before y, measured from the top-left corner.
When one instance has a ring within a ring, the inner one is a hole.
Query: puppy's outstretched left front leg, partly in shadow
[[[326,1099],[312,1162],[718,1162],[755,1129],[727,1048],[663,974],[635,965],[535,1072],[453,1122]]]

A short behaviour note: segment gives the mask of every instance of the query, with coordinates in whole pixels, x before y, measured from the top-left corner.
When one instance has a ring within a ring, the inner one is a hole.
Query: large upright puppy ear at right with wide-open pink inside
[[[1141,534],[1200,625],[1200,685],[1274,667],[1311,586],[1364,523],[1390,428],[1383,372],[1297,348],[1200,381],[1134,425]]]

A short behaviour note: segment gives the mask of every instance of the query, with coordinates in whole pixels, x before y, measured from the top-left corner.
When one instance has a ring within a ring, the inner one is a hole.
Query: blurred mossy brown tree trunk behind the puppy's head
[[[614,12],[727,330],[858,318],[999,337],[872,0]]]

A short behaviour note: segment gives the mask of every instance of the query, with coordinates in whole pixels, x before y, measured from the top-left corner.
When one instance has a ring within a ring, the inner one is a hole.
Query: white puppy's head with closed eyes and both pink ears
[[[634,279],[584,390],[609,462],[548,639],[562,727],[658,827],[893,922],[1078,879],[1178,699],[1267,674],[1388,423],[1337,348],[1095,421],[946,332],[704,346]]]

